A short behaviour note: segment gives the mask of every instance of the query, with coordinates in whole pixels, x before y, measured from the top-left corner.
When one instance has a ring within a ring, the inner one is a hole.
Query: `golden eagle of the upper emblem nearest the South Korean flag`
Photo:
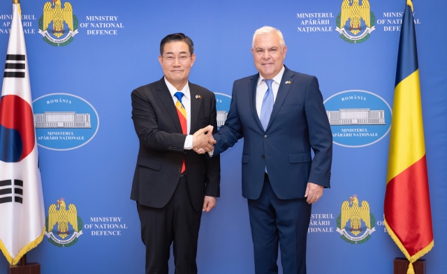
[[[68,29],[73,31],[73,8],[71,3],[65,2],[62,8],[61,0],[53,0],[46,2],[43,6],[43,31],[48,29],[50,23],[53,22],[52,34],[57,38],[64,35],[64,22],[68,25]]]

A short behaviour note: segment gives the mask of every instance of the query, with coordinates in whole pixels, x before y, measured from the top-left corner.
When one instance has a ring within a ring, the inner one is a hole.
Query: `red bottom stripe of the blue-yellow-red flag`
[[[433,241],[425,155],[386,185],[384,213],[410,256]]]

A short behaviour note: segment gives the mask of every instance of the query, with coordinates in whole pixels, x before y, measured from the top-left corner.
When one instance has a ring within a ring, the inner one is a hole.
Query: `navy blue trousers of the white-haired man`
[[[284,274],[306,273],[307,228],[312,205],[306,198],[279,199],[265,176],[261,196],[248,200],[256,274],[278,273],[278,242]]]

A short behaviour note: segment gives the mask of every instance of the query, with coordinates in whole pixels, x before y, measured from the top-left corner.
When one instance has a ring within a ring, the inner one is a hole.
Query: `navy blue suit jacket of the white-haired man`
[[[332,133],[318,80],[286,68],[264,131],[256,113],[258,78],[234,82],[228,118],[214,135],[214,155],[244,137],[242,195],[247,199],[261,195],[264,167],[279,199],[304,197],[307,182],[329,188]]]

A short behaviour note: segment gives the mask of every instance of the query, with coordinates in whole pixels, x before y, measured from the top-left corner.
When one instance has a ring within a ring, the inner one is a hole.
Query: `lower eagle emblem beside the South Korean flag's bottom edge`
[[[82,220],[78,216],[76,206],[70,204],[67,210],[64,198],[48,208],[46,227],[45,235],[49,238],[48,241],[59,247],[74,245],[82,235]]]

